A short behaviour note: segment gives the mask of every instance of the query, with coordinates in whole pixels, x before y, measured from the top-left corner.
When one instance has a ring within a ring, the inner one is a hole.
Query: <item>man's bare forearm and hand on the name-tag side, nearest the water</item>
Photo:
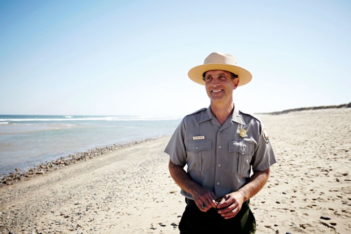
[[[197,184],[181,166],[170,160],[168,169],[176,184],[194,197],[195,203],[201,211],[208,211],[210,208],[216,207],[215,194]],[[201,207],[203,203],[206,204],[205,208]]]

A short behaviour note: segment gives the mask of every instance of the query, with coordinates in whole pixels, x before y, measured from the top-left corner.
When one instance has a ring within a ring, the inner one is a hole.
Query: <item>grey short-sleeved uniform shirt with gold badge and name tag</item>
[[[164,152],[174,164],[187,165],[189,176],[216,197],[240,189],[251,169],[263,171],[277,161],[263,124],[235,108],[222,126],[211,108],[184,117]]]

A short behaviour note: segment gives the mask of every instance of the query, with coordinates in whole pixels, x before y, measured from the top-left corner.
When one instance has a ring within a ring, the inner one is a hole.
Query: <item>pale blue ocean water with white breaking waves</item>
[[[89,149],[171,135],[180,118],[0,115],[0,176]]]

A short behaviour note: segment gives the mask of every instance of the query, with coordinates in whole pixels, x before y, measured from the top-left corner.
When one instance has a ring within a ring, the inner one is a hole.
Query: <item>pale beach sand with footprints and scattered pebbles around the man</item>
[[[278,163],[250,200],[256,233],[351,233],[351,108],[258,117]],[[0,233],[178,233],[185,202],[169,138],[3,186]]]

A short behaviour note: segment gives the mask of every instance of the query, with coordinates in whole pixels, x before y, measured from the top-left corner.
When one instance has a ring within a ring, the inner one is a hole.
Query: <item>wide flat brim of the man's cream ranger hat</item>
[[[198,84],[205,85],[205,81],[203,81],[202,75],[205,72],[211,71],[211,70],[223,70],[223,71],[232,72],[232,73],[238,75],[238,77],[239,77],[238,86],[247,84],[252,79],[252,75],[248,70],[246,70],[242,67],[223,64],[223,63],[209,63],[209,64],[203,64],[203,65],[193,67],[192,69],[189,70],[188,77]]]

